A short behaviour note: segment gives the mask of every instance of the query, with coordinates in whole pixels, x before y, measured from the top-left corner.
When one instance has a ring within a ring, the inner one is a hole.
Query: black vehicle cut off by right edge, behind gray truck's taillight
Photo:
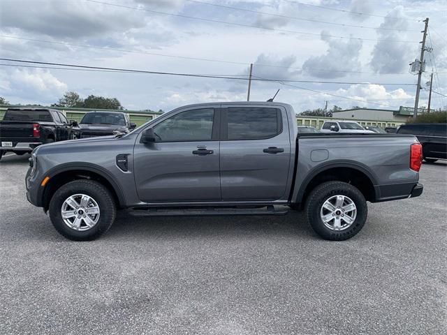
[[[447,159],[447,124],[404,124],[397,133],[416,135],[427,163]]]

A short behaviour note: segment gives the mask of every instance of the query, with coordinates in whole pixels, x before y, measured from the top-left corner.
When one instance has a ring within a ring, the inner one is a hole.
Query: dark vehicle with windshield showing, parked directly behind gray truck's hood
[[[87,112],[80,123],[81,138],[129,133],[135,129],[124,112]]]

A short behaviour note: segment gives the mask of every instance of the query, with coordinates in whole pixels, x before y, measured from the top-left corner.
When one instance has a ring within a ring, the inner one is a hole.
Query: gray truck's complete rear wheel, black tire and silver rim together
[[[323,239],[342,241],[356,235],[367,218],[365,197],[358,188],[342,181],[328,181],[310,193],[307,220]]]

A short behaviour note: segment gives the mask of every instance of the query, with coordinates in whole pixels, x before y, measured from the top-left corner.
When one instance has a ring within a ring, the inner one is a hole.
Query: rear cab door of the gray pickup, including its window
[[[235,105],[221,113],[222,200],[286,198],[291,164],[286,110]]]

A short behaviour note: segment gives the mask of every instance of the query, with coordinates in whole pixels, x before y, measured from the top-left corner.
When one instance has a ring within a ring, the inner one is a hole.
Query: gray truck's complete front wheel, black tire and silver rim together
[[[115,221],[112,195],[97,181],[75,180],[61,186],[50,201],[54,228],[73,241],[96,239]]]

